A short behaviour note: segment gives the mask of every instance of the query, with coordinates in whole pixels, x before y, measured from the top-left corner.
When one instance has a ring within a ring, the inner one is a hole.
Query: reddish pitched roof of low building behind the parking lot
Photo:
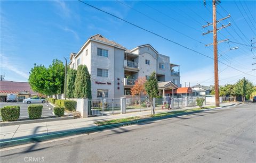
[[[28,91],[31,94],[37,94],[34,92],[28,82],[14,82],[14,81],[0,81],[0,92],[11,93],[19,91]]]

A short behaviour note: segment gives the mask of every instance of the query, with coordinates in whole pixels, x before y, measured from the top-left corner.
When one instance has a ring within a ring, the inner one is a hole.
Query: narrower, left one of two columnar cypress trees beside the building
[[[76,80],[76,70],[73,68],[68,69],[67,73],[67,98],[75,98],[75,80]]]

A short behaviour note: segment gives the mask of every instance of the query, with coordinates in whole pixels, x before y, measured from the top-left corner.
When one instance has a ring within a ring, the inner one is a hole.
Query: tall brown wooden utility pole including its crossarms
[[[213,26],[213,30],[208,30],[207,32],[203,32],[203,35],[206,35],[208,33],[213,33],[213,43],[208,44],[205,46],[213,45],[213,56],[214,56],[214,88],[215,88],[215,106],[220,106],[220,99],[219,99],[219,73],[218,73],[218,43],[228,41],[228,39],[221,40],[218,42],[217,38],[217,32],[223,28],[229,27],[231,23],[227,25],[221,25],[220,28],[217,28],[217,23],[221,22],[222,20],[225,20],[227,18],[230,18],[230,14],[226,16],[225,18],[222,18],[220,20],[216,19],[216,5],[220,3],[219,0],[212,0],[212,23],[207,22],[206,25],[203,25],[202,28],[209,27],[210,25]],[[205,1],[204,1],[205,4]]]

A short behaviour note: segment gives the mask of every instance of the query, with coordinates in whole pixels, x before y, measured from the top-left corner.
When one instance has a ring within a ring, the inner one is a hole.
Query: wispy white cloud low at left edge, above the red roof
[[[20,75],[22,78],[28,79],[29,74],[26,72],[23,72],[20,67],[17,66],[17,64],[10,62],[10,58],[4,56],[3,54],[0,54],[1,58],[1,69],[4,68],[7,71],[12,71],[16,73],[17,75]]]

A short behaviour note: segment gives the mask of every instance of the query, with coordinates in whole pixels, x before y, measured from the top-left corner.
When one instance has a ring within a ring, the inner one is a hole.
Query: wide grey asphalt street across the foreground
[[[256,104],[1,150],[1,162],[256,162]]]

